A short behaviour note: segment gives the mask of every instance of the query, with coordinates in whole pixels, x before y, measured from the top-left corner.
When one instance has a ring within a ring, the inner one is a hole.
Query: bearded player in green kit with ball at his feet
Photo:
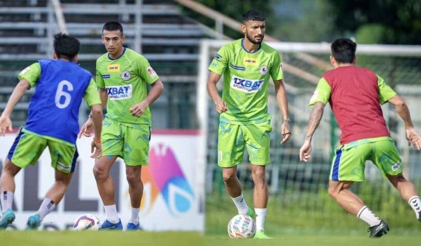
[[[239,214],[254,217],[255,238],[269,238],[264,233],[267,206],[265,166],[270,163],[271,116],[267,113],[267,88],[272,77],[276,98],[282,112],[281,144],[291,136],[288,103],[282,82],[281,58],[272,47],[263,43],[265,17],[259,10],[243,14],[241,29],[244,38],[224,45],[209,65],[207,91],[220,113],[218,130],[218,165],[228,194]],[[216,84],[223,75],[222,98]],[[250,209],[237,178],[237,165],[242,162],[244,148],[252,163],[255,211]]]

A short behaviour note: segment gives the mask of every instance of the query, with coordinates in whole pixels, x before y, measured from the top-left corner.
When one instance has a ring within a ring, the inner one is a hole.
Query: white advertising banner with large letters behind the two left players
[[[0,137],[0,164],[13,144],[15,135]],[[204,174],[198,163],[197,134],[154,134],[150,142],[149,166],[142,168],[144,194],[140,211],[141,228],[148,231],[204,230]],[[66,196],[56,211],[46,216],[41,229],[71,228],[75,218],[90,213],[105,219],[103,204],[92,173],[90,139],[77,142],[79,158]],[[24,230],[28,216],[38,210],[54,181],[48,149],[34,167],[21,170],[15,177],[13,210],[16,220],[10,229]],[[130,217],[131,206],[125,165],[118,158],[111,169],[116,187],[116,202],[123,226]]]

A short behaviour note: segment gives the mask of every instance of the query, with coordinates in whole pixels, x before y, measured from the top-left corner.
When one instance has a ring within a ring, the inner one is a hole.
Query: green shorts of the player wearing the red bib
[[[371,160],[383,175],[402,172],[402,160],[391,137],[367,138],[350,142],[335,150],[330,179],[363,181],[366,160]]]

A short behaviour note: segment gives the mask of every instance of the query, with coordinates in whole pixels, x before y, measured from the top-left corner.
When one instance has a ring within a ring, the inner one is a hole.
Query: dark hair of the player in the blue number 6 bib
[[[54,35],[54,52],[58,58],[73,60],[81,49],[81,43],[73,36],[65,33],[56,33]]]

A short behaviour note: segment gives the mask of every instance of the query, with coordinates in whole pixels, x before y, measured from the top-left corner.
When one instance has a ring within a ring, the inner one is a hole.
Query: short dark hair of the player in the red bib
[[[338,63],[352,63],[357,44],[349,38],[338,38],[331,45],[333,57]]]

